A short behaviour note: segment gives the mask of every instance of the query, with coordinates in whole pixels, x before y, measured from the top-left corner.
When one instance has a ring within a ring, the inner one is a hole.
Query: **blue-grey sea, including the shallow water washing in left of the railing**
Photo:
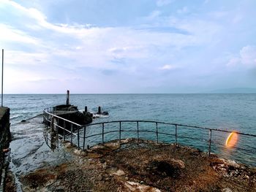
[[[42,111],[66,103],[66,94],[7,94],[4,106],[10,107],[12,132],[11,168],[20,176],[40,166],[59,164],[70,158],[67,153],[51,150],[45,143]],[[153,120],[189,126],[238,131],[256,135],[256,94],[70,94],[70,104],[83,111],[109,115],[95,118],[93,123],[111,120]],[[26,120],[26,123],[21,123]],[[150,125],[148,125],[150,126]],[[160,128],[160,127],[159,127]],[[162,131],[172,131],[172,127]],[[237,147],[225,147],[229,133],[212,131],[211,152],[249,166],[256,166],[256,137],[239,136]],[[140,133],[143,137],[143,133]],[[185,137],[182,137],[185,136]],[[125,137],[136,137],[135,134]],[[194,137],[204,139],[189,139]],[[178,126],[177,142],[208,151],[208,130]],[[117,139],[117,138],[116,138]],[[146,139],[155,139],[155,135]],[[214,145],[214,141],[219,145]],[[159,137],[159,142],[174,142],[173,136]],[[253,153],[254,152],[254,153]],[[17,178],[18,178],[17,177]],[[18,182],[18,179],[17,179]]]

